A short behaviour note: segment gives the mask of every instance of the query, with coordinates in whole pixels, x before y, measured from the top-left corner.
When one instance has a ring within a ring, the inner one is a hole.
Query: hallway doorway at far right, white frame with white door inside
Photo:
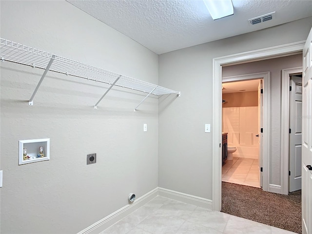
[[[292,77],[299,77],[301,82],[291,82]],[[290,88],[291,86],[294,87]],[[295,100],[298,95],[301,97],[299,100]],[[302,67],[283,69],[281,102],[281,185],[283,194],[301,189],[301,168],[298,168],[302,159],[301,142],[295,142],[300,141],[302,136],[301,107]],[[297,139],[298,137],[300,139]]]

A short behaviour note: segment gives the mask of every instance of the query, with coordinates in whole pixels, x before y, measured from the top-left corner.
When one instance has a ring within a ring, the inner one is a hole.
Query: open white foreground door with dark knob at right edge
[[[303,48],[302,233],[312,233],[312,29]]]

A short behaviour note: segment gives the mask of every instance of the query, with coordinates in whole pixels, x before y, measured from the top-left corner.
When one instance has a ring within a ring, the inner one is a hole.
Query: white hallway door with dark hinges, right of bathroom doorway
[[[289,192],[301,189],[302,78],[291,76],[289,96]]]

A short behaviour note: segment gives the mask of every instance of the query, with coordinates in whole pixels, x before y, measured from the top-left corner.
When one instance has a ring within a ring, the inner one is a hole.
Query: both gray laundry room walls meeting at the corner
[[[1,0],[0,8],[2,38],[159,78],[182,92],[149,98],[134,113],[143,96],[114,88],[95,111],[107,85],[49,72],[29,107],[42,70],[0,63],[3,234],[77,233],[128,204],[130,192],[139,197],[157,185],[211,199],[212,137],[204,123],[212,122],[212,59],[304,40],[312,24],[299,20],[158,57],[66,1]],[[45,137],[51,159],[18,166],[18,141]],[[93,152],[97,164],[87,166]]]

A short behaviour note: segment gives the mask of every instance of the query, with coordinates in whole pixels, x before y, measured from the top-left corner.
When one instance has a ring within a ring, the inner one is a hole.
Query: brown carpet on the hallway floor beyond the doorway
[[[221,212],[301,234],[301,190],[280,195],[222,182]]]

